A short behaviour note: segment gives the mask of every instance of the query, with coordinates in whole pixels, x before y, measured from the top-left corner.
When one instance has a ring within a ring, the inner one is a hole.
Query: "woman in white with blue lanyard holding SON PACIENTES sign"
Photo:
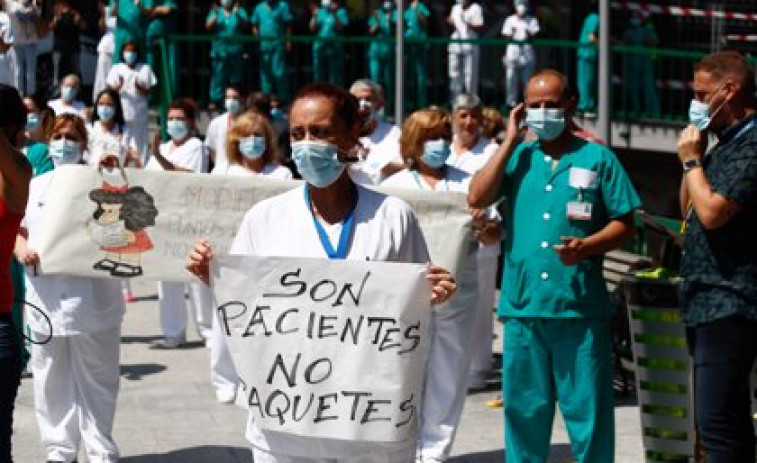
[[[423,263],[426,242],[403,201],[356,185],[347,163],[362,121],[357,100],[331,84],[303,88],[292,103],[292,159],[306,184],[264,200],[245,216],[232,254]],[[329,229],[330,232],[325,231]],[[333,242],[341,245],[334,250]],[[209,279],[211,244],[199,240],[187,268]],[[429,266],[432,303],[456,290],[445,269]],[[406,463],[415,457],[413,439],[400,443],[303,437],[262,430],[250,419],[247,438],[257,463],[290,461]]]

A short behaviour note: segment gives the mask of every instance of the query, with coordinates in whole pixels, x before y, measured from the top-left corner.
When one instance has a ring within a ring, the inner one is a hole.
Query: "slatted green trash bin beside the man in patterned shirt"
[[[636,366],[636,390],[647,461],[693,461],[696,435],[691,359],[668,279],[622,281]]]

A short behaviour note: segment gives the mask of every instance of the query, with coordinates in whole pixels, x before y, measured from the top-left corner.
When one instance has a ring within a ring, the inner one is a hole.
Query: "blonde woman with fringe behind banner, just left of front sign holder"
[[[292,172],[277,162],[276,132],[261,114],[248,111],[234,120],[226,142],[226,156],[228,165],[214,170],[215,175],[292,179]],[[209,347],[210,382],[215,388],[216,398],[221,403],[231,403],[236,397],[239,376],[218,317],[213,317]]]

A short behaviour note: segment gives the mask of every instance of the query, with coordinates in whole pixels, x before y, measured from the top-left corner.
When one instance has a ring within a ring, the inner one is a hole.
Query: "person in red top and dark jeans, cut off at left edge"
[[[13,322],[14,294],[10,260],[14,237],[24,216],[32,167],[23,143],[26,109],[18,92],[0,84],[0,461],[12,462],[13,408],[21,384],[19,328]]]

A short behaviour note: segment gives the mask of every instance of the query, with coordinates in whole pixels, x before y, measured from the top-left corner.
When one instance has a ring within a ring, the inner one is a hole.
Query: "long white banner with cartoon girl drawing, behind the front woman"
[[[162,281],[191,280],[184,265],[197,238],[226,253],[255,203],[302,184],[134,169],[119,184],[119,176],[87,166],[45,175],[52,176],[44,192],[47,220],[35,243],[42,273]],[[391,195],[416,211],[432,261],[457,274],[473,243],[465,196],[400,189]]]

